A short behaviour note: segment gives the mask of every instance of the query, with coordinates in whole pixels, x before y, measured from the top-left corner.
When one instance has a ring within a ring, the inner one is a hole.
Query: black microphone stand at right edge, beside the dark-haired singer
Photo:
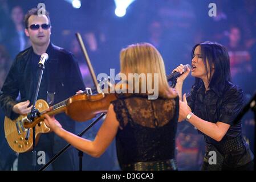
[[[254,93],[254,96],[251,98],[251,100],[243,107],[243,109],[240,111],[237,117],[235,117],[234,124],[237,124],[242,119],[243,115],[245,115],[247,111],[249,111],[250,109],[254,113],[254,121],[256,122],[256,92]],[[254,152],[256,151],[255,140],[256,140],[256,127],[254,126]],[[254,171],[256,169],[255,164],[256,164],[256,159],[254,157]]]

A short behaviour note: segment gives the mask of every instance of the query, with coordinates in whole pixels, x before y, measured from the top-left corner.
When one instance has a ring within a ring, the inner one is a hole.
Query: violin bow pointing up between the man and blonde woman
[[[89,71],[90,71],[91,76],[92,76],[92,81],[94,82],[95,90],[97,90],[97,84],[98,84],[97,78],[96,78],[96,75],[95,75],[95,72],[94,72],[94,68],[92,68],[92,64],[91,64],[90,58],[88,56],[88,53],[86,51],[86,47],[84,46],[82,36],[78,32],[75,35],[76,35],[76,39],[78,39],[78,43],[79,43],[79,45],[82,49],[83,55],[86,59],[87,66],[88,66]]]

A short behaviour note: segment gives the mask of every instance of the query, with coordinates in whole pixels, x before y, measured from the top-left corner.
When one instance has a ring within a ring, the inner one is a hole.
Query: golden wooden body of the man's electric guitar
[[[48,104],[44,100],[38,100],[35,104],[36,109],[39,112],[46,110],[49,108]],[[32,150],[33,138],[32,128],[26,129],[23,125],[23,121],[26,121],[27,115],[19,115],[19,117],[15,120],[11,120],[5,117],[5,138],[11,147],[12,150],[18,153],[23,153]],[[50,132],[50,129],[46,126],[46,124],[42,121],[39,122],[40,125],[35,126],[35,141],[38,143],[40,134]],[[27,130],[30,130],[29,139],[26,140]]]

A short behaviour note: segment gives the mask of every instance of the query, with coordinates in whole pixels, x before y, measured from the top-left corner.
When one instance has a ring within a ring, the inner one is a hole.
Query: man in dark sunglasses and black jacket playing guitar
[[[45,11],[45,14],[38,15],[38,11],[40,9],[31,9],[25,16],[25,34],[29,37],[32,46],[15,57],[0,92],[0,105],[10,119],[30,112],[39,77],[38,62],[40,55],[45,52],[49,58],[44,65],[38,100],[43,99],[50,105],[57,104],[75,95],[77,90],[85,88],[78,64],[72,53],[54,46],[50,41],[51,22],[48,12]],[[17,100],[19,93],[21,99]],[[55,117],[62,122],[67,130],[75,132],[75,121],[65,114],[58,114]],[[36,151],[44,152],[47,163],[66,144],[54,133],[43,134],[36,145]],[[47,169],[75,169],[73,154],[74,148],[67,150]],[[43,164],[38,164],[40,156],[36,155],[36,169],[43,166]],[[31,151],[19,154],[18,170],[32,170]]]

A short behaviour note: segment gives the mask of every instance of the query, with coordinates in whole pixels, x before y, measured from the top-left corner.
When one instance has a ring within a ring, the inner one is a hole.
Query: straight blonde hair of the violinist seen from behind
[[[153,78],[154,73],[159,75],[159,96],[164,98],[173,98],[177,96],[174,89],[171,89],[166,80],[165,66],[159,51],[149,43],[137,43],[124,48],[120,52],[121,73],[128,76],[128,73],[151,73],[152,86],[156,81]],[[147,77],[146,77],[146,81]],[[157,86],[157,85],[156,85]],[[141,87],[141,81],[140,81]],[[148,93],[148,92],[147,92]]]

